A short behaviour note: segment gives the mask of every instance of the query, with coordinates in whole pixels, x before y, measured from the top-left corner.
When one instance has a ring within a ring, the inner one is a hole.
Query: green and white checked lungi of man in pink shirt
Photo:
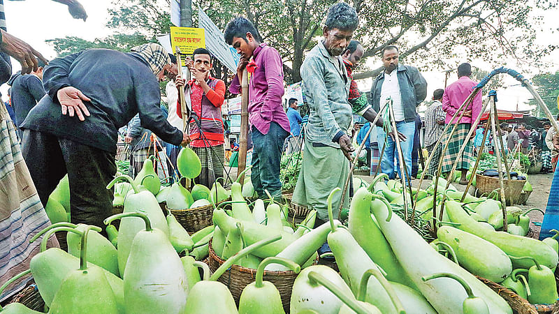
[[[444,158],[442,159],[442,173],[450,172],[455,163],[457,163],[456,170],[470,169],[470,160],[473,158],[473,153],[472,141],[467,136],[467,133],[470,131],[471,127],[471,124],[458,124],[456,127],[456,130],[449,142],[449,147],[447,148],[447,151],[444,152]],[[444,133],[444,143],[449,140],[452,128],[453,126],[447,128],[447,132]],[[461,156],[458,156],[458,152],[460,151],[462,144],[464,144],[464,141],[467,141],[466,149]]]

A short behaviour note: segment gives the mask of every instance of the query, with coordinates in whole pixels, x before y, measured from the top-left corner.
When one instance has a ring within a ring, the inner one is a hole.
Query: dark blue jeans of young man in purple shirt
[[[279,161],[285,138],[289,133],[275,122],[270,123],[270,130],[262,134],[252,126],[252,169],[251,181],[260,198],[268,198],[264,190],[273,197],[282,195],[282,183],[279,181]]]

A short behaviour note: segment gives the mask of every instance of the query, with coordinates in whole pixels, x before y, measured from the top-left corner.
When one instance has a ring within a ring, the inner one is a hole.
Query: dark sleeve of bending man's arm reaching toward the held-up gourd
[[[182,131],[171,126],[159,108],[161,91],[159,91],[157,81],[145,82],[136,86],[135,93],[141,125],[152,130],[161,140],[173,145],[180,145]]]

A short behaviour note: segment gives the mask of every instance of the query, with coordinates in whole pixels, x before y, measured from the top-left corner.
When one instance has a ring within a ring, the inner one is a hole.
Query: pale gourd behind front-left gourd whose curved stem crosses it
[[[167,220],[155,196],[148,190],[140,190],[138,186],[128,176],[119,176],[110,181],[107,188],[111,188],[119,179],[126,179],[132,185],[133,192],[126,196],[124,201],[124,213],[139,212],[147,215],[154,227],[161,230],[165,234],[169,234]],[[143,221],[136,217],[126,217],[120,220],[118,230],[118,269],[119,274],[123,275],[126,269],[126,260],[130,254],[130,247],[136,234],[145,229]]]

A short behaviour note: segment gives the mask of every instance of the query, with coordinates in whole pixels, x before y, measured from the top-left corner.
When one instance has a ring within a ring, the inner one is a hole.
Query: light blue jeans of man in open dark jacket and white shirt
[[[415,122],[400,121],[396,122],[396,129],[398,132],[402,133],[407,137],[404,142],[400,141],[402,146],[403,159],[406,165],[407,177],[412,175],[412,148],[414,147],[414,133],[415,133]],[[390,179],[394,179],[394,159],[396,159],[396,164],[398,165],[398,175],[402,177],[400,173],[400,160],[398,160],[398,149],[396,149],[396,144],[392,140],[392,137],[386,138],[386,133],[380,127],[378,127],[378,137],[379,147],[382,147],[384,141],[386,140],[386,148],[384,149],[384,155],[382,155],[381,171],[382,173],[388,174]]]

